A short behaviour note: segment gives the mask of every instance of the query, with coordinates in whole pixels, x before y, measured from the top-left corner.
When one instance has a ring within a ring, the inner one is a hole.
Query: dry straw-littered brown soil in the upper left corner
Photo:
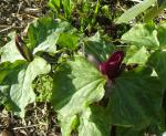
[[[46,0],[1,0],[0,34],[24,29],[29,22],[46,12]]]

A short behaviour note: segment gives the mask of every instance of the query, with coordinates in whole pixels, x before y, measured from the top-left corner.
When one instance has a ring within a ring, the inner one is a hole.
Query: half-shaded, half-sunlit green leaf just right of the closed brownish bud
[[[29,46],[33,53],[39,51],[55,53],[61,33],[72,34],[75,29],[70,23],[51,18],[40,18],[29,25]]]

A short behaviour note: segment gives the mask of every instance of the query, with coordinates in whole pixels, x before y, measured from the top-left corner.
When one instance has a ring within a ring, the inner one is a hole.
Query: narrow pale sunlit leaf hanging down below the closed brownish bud
[[[15,79],[18,83],[10,86],[10,98],[20,108],[20,111],[15,111],[15,114],[24,116],[24,107],[35,100],[32,81],[37,75],[49,73],[50,70],[50,64],[41,57],[35,57],[19,72],[18,79]]]

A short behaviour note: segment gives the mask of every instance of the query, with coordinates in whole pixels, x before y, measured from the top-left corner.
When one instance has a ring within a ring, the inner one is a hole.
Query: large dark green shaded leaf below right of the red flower
[[[107,107],[112,124],[142,129],[157,118],[164,88],[152,72],[139,67],[115,80]]]

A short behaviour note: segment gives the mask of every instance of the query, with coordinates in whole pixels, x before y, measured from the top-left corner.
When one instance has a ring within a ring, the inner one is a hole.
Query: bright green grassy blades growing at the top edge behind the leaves
[[[101,0],[49,0],[48,6],[56,18],[70,21],[84,32],[98,29],[95,23],[100,13],[111,17],[108,8],[101,9]]]

